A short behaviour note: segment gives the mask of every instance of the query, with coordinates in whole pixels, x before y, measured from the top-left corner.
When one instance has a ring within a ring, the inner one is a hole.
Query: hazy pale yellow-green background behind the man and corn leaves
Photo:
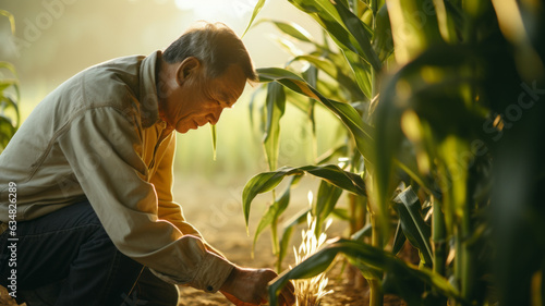
[[[5,44],[0,48],[0,60],[13,63],[17,71],[24,121],[46,95],[77,72],[113,58],[164,50],[198,21],[223,22],[241,36],[256,2],[2,0],[0,8],[14,15],[16,32],[12,35],[8,19],[0,19],[0,41]],[[296,21],[313,36],[322,37],[316,23],[288,1],[267,1],[261,19]],[[244,35],[243,41],[256,68],[283,66],[288,61],[290,54],[276,42],[279,35],[270,23],[257,24]],[[298,48],[304,50],[305,46]],[[174,193],[187,219],[204,232],[220,231],[230,218],[242,225],[242,188],[254,174],[267,170],[262,134],[251,126],[249,117],[250,99],[256,87],[247,85],[235,107],[222,113],[217,125],[216,160],[208,125],[178,134]],[[335,143],[338,122],[319,108],[317,111],[316,118],[322,122],[317,125],[319,154]],[[280,166],[312,163],[311,126],[301,123],[307,122],[301,120],[304,117],[300,111],[287,111],[281,120]],[[301,205],[305,206],[306,191],[301,195]],[[270,200],[270,196],[263,199]],[[203,206],[203,201],[210,203]],[[257,207],[253,213],[261,216],[263,209]],[[252,223],[251,228],[255,225]]]

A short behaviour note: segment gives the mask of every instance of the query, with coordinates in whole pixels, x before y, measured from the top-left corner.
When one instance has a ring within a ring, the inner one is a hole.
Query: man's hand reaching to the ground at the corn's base
[[[234,267],[219,291],[237,306],[255,306],[267,303],[268,282],[277,277],[270,269]],[[280,306],[295,303],[293,285],[288,283],[278,297]]]

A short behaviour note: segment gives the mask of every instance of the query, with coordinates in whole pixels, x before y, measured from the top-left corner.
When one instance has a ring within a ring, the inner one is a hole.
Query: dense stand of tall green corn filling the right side
[[[308,63],[304,71],[290,63],[258,69],[267,91],[262,109],[270,171],[244,188],[246,224],[255,195],[294,175],[256,232],[271,225],[281,265],[286,238],[305,213],[287,223],[281,240],[277,222],[303,174],[323,181],[314,216],[324,220],[335,212],[340,193],[348,192],[370,224],[282,273],[269,287],[270,304],[290,279],[315,277],[342,254],[367,279],[371,305],[382,305],[385,293],[409,305],[541,305],[543,4],[289,2],[327,37],[317,42],[296,25],[271,21],[315,50],[290,61]],[[286,102],[306,112],[313,125],[319,124],[315,107],[331,112],[346,128],[346,145],[316,164],[276,169]],[[331,163],[336,156],[351,162]],[[363,242],[360,234],[370,229],[372,238]],[[396,257],[404,240],[419,249],[419,267]]]

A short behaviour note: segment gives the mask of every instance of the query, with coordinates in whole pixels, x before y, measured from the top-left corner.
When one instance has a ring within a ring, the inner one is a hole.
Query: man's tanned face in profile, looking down
[[[239,65],[230,65],[216,78],[205,75],[199,65],[180,72],[182,82],[165,99],[164,120],[179,133],[196,130],[206,123],[216,124],[225,108],[230,108],[244,90],[246,77]]]

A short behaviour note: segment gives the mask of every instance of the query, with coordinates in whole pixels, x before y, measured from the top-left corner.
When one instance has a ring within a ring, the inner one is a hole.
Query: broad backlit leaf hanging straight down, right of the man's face
[[[267,123],[263,144],[267,156],[269,170],[276,169],[280,138],[280,119],[286,109],[286,94],[283,87],[277,83],[267,84]]]

